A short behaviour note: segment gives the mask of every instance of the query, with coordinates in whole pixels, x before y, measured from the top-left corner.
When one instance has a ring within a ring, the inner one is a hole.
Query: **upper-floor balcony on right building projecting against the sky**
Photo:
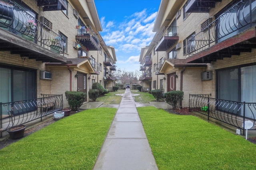
[[[166,51],[178,42],[178,27],[164,27],[157,38],[156,51]]]

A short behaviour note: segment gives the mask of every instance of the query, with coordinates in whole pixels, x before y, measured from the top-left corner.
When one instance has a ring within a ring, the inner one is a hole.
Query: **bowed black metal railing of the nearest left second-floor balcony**
[[[64,55],[66,44],[62,37],[21,9],[15,2],[0,1],[0,29]]]

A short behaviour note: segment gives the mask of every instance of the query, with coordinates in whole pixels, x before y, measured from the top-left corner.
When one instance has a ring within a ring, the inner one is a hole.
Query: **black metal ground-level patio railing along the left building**
[[[62,95],[44,95],[43,98],[22,100],[18,102],[0,102],[0,137],[6,129],[41,119],[42,117],[59,111],[63,107]]]

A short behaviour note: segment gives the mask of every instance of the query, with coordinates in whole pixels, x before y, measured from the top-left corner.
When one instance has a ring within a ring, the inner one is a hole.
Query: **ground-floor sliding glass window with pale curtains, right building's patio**
[[[255,103],[255,75],[256,65],[238,66],[235,68],[217,70],[218,98],[235,102]],[[233,110],[233,113],[237,112],[236,108],[232,108],[231,110]],[[250,111],[246,111],[246,114],[247,113],[250,113]]]

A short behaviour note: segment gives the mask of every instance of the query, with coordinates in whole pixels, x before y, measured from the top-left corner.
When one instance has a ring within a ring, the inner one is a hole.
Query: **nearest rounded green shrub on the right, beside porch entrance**
[[[177,103],[180,100],[183,100],[183,91],[171,91],[164,94],[165,101],[172,106],[173,109],[176,109]]]

